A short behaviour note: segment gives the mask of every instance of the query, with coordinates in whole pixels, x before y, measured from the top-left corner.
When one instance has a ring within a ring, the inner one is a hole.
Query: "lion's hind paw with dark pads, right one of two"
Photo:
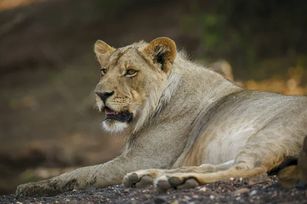
[[[194,177],[181,176],[180,173],[166,174],[155,179],[155,186],[160,193],[166,192],[168,189],[190,189],[198,187],[200,183]]]

